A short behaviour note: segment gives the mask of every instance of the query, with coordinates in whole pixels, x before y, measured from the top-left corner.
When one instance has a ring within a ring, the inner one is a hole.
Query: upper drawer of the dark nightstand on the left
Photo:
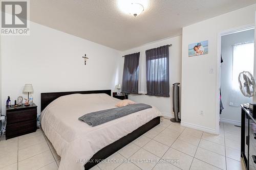
[[[37,117],[37,109],[25,109],[25,110],[15,110],[15,111],[8,111],[7,112],[7,125],[23,122],[26,120],[36,120]]]

